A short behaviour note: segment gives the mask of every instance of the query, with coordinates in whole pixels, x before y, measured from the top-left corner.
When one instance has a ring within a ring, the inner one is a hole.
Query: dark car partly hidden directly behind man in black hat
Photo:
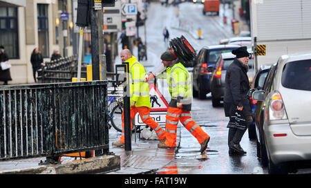
[[[252,54],[252,51],[249,51]],[[222,53],[216,62],[215,70],[211,74],[211,79],[209,80],[211,86],[211,104],[213,107],[220,106],[220,101],[223,101],[225,95],[225,77],[227,73],[227,68],[236,56],[232,53]],[[250,57],[252,58],[252,56]],[[254,77],[254,61],[249,59],[248,61],[249,71],[247,76],[249,79],[249,84],[252,84]]]

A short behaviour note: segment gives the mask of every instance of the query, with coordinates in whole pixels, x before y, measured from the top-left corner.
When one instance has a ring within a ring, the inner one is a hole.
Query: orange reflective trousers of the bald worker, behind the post
[[[140,107],[131,107],[131,130],[133,129],[132,120],[135,118],[136,113],[140,113],[140,118],[142,118],[142,122],[151,127],[154,131],[156,131],[159,140],[163,140],[165,138],[166,132],[162,129],[159,124],[153,120],[150,116],[150,109],[147,106]],[[124,143],[124,109],[122,112],[122,135],[119,140]]]

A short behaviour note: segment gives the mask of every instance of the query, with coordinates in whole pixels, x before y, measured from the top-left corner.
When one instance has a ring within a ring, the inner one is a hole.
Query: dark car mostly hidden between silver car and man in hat
[[[267,73],[270,71],[271,65],[262,65],[261,68],[257,71],[256,75],[254,75],[254,81],[252,82],[252,86],[250,91],[254,92],[257,90],[263,90],[263,84],[265,83],[265,77],[267,77]],[[255,125],[255,110],[257,101],[252,99],[252,95],[249,95],[249,100],[252,107],[252,115],[253,115],[253,123],[248,127],[248,138],[251,140],[256,139],[256,125]],[[258,149],[258,158],[260,156],[260,149]]]

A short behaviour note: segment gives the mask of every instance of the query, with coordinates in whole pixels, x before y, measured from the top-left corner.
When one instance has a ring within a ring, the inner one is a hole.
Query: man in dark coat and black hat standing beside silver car
[[[246,153],[242,149],[240,142],[247,126],[253,121],[252,109],[247,96],[250,88],[247,77],[249,53],[245,46],[232,50],[232,53],[236,55],[236,58],[227,68],[224,97],[225,116],[230,118],[227,126],[229,128],[228,145],[230,156],[236,153]]]

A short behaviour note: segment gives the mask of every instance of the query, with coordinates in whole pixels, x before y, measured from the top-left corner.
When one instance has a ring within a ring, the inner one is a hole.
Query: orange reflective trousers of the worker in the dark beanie
[[[207,133],[202,130],[200,125],[192,120],[189,111],[183,111],[182,109],[169,107],[167,109],[165,123],[167,140],[164,142],[168,147],[176,147],[177,124],[179,121],[192,135],[194,135],[200,144],[209,138],[209,135],[207,135]]]

